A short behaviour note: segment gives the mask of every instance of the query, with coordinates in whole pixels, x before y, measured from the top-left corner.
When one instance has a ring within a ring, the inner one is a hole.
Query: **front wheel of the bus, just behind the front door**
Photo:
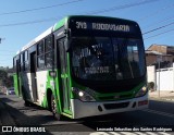
[[[51,95],[51,111],[55,120],[61,121],[62,115],[57,112],[57,102],[53,95]]]

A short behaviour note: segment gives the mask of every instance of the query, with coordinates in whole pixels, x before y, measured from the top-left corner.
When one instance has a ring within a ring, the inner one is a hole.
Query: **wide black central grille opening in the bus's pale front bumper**
[[[121,108],[126,108],[128,107],[129,102],[121,102],[121,103],[104,103],[104,108],[107,110],[111,110],[111,109],[121,109]]]

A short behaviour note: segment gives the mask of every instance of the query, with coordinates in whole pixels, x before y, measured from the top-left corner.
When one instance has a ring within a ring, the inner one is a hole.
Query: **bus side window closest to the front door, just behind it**
[[[52,35],[47,37],[45,40],[46,45],[46,68],[52,68],[53,65],[53,39]]]

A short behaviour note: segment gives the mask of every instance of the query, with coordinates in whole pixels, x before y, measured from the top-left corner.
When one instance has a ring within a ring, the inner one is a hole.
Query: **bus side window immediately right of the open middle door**
[[[45,68],[45,53],[44,53],[44,41],[42,40],[37,45],[37,68],[38,69]]]

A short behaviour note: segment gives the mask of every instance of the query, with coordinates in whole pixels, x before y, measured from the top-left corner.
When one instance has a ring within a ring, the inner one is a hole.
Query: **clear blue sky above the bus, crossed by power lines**
[[[0,0],[0,66],[13,66],[16,51],[66,15],[136,21],[145,49],[174,46],[174,0]]]

